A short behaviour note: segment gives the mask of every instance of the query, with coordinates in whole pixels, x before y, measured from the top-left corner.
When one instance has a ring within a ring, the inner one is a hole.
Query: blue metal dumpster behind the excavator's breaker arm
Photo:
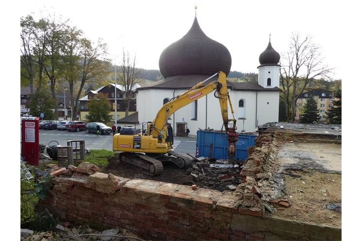
[[[239,134],[234,159],[244,161],[248,157],[248,147],[255,146],[256,137],[255,135]],[[225,132],[197,131],[196,157],[208,157],[211,152],[211,158],[227,160],[229,159],[227,147],[228,143]]]

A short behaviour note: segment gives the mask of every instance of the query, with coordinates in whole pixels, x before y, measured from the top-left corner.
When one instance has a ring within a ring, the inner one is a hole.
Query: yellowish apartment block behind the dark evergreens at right
[[[317,101],[319,113],[320,113],[320,121],[326,120],[326,112],[333,106],[333,91],[328,91],[325,89],[314,89],[308,92],[304,92],[298,96],[296,103],[296,112],[295,112],[295,120],[299,120],[300,110],[303,108],[304,103],[307,102],[308,98],[313,96]]]

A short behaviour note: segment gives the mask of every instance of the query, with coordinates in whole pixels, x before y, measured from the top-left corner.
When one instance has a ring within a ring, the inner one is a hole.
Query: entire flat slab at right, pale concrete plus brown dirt
[[[281,143],[277,163],[282,195],[291,207],[277,217],[342,226],[342,145],[325,142]],[[336,210],[327,207],[336,206]]]

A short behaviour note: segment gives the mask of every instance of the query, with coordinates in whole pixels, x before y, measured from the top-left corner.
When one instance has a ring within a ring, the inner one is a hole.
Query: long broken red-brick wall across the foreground
[[[47,207],[63,221],[100,229],[126,228],[144,239],[334,240],[340,231],[245,215],[236,208],[239,199],[231,192],[193,190],[99,172],[57,176],[52,183],[51,194],[40,209]]]

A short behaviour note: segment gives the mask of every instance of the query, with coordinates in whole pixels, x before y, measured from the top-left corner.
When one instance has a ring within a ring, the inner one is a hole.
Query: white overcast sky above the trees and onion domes
[[[311,8],[310,6],[313,6]],[[271,35],[273,48],[286,52],[292,32],[310,34],[321,47],[325,63],[341,74],[342,28],[336,17],[344,5],[326,1],[240,0],[127,0],[127,1],[24,1],[20,16],[55,13],[83,30],[86,37],[103,38],[108,52],[120,59],[122,48],[137,55],[137,66],[159,69],[161,52],[190,29],[197,19],[208,37],[231,53],[231,70],[258,72],[259,54]],[[118,60],[119,61],[119,60]]]

